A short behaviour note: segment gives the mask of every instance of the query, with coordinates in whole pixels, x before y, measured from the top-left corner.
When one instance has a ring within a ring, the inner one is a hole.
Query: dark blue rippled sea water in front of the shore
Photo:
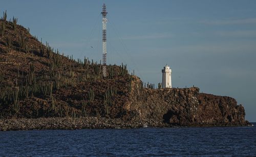
[[[0,156],[256,155],[256,127],[0,132]]]

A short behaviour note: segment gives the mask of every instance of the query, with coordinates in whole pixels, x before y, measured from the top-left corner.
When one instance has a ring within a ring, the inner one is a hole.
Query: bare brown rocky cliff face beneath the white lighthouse
[[[155,119],[179,126],[248,125],[242,105],[235,99],[199,93],[199,88],[165,88],[139,90],[135,78],[127,110],[138,118]]]

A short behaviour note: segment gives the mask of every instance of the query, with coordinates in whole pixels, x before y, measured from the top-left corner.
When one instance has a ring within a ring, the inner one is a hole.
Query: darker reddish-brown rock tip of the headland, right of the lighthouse
[[[230,97],[200,93],[197,123],[203,125],[248,125],[242,104]]]

